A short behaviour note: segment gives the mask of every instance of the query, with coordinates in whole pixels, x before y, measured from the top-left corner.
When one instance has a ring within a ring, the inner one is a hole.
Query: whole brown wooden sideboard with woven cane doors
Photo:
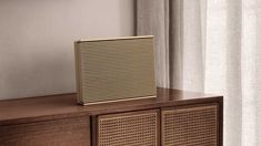
[[[222,146],[222,96],[157,92],[88,106],[74,93],[0,101],[0,146]]]

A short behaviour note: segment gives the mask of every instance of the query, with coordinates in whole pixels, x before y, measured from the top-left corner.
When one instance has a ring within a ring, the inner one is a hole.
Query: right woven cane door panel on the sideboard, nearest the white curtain
[[[162,111],[163,146],[217,146],[218,106]]]

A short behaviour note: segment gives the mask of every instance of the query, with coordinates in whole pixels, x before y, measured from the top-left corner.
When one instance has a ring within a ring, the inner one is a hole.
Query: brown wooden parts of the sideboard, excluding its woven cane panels
[[[88,106],[77,104],[76,93],[0,101],[0,146],[97,145],[96,131],[101,115],[209,104],[219,105],[218,143],[222,146],[223,97],[220,95],[158,87],[154,98]]]

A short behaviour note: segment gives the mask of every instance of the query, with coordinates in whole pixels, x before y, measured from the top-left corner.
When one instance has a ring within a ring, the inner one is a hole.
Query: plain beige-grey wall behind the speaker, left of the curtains
[[[132,0],[1,0],[0,100],[76,92],[73,41],[122,35]]]

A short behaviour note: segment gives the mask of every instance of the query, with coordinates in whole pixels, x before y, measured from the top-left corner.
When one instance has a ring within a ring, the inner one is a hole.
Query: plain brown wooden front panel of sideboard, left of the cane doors
[[[0,127],[1,146],[90,146],[89,117]]]

